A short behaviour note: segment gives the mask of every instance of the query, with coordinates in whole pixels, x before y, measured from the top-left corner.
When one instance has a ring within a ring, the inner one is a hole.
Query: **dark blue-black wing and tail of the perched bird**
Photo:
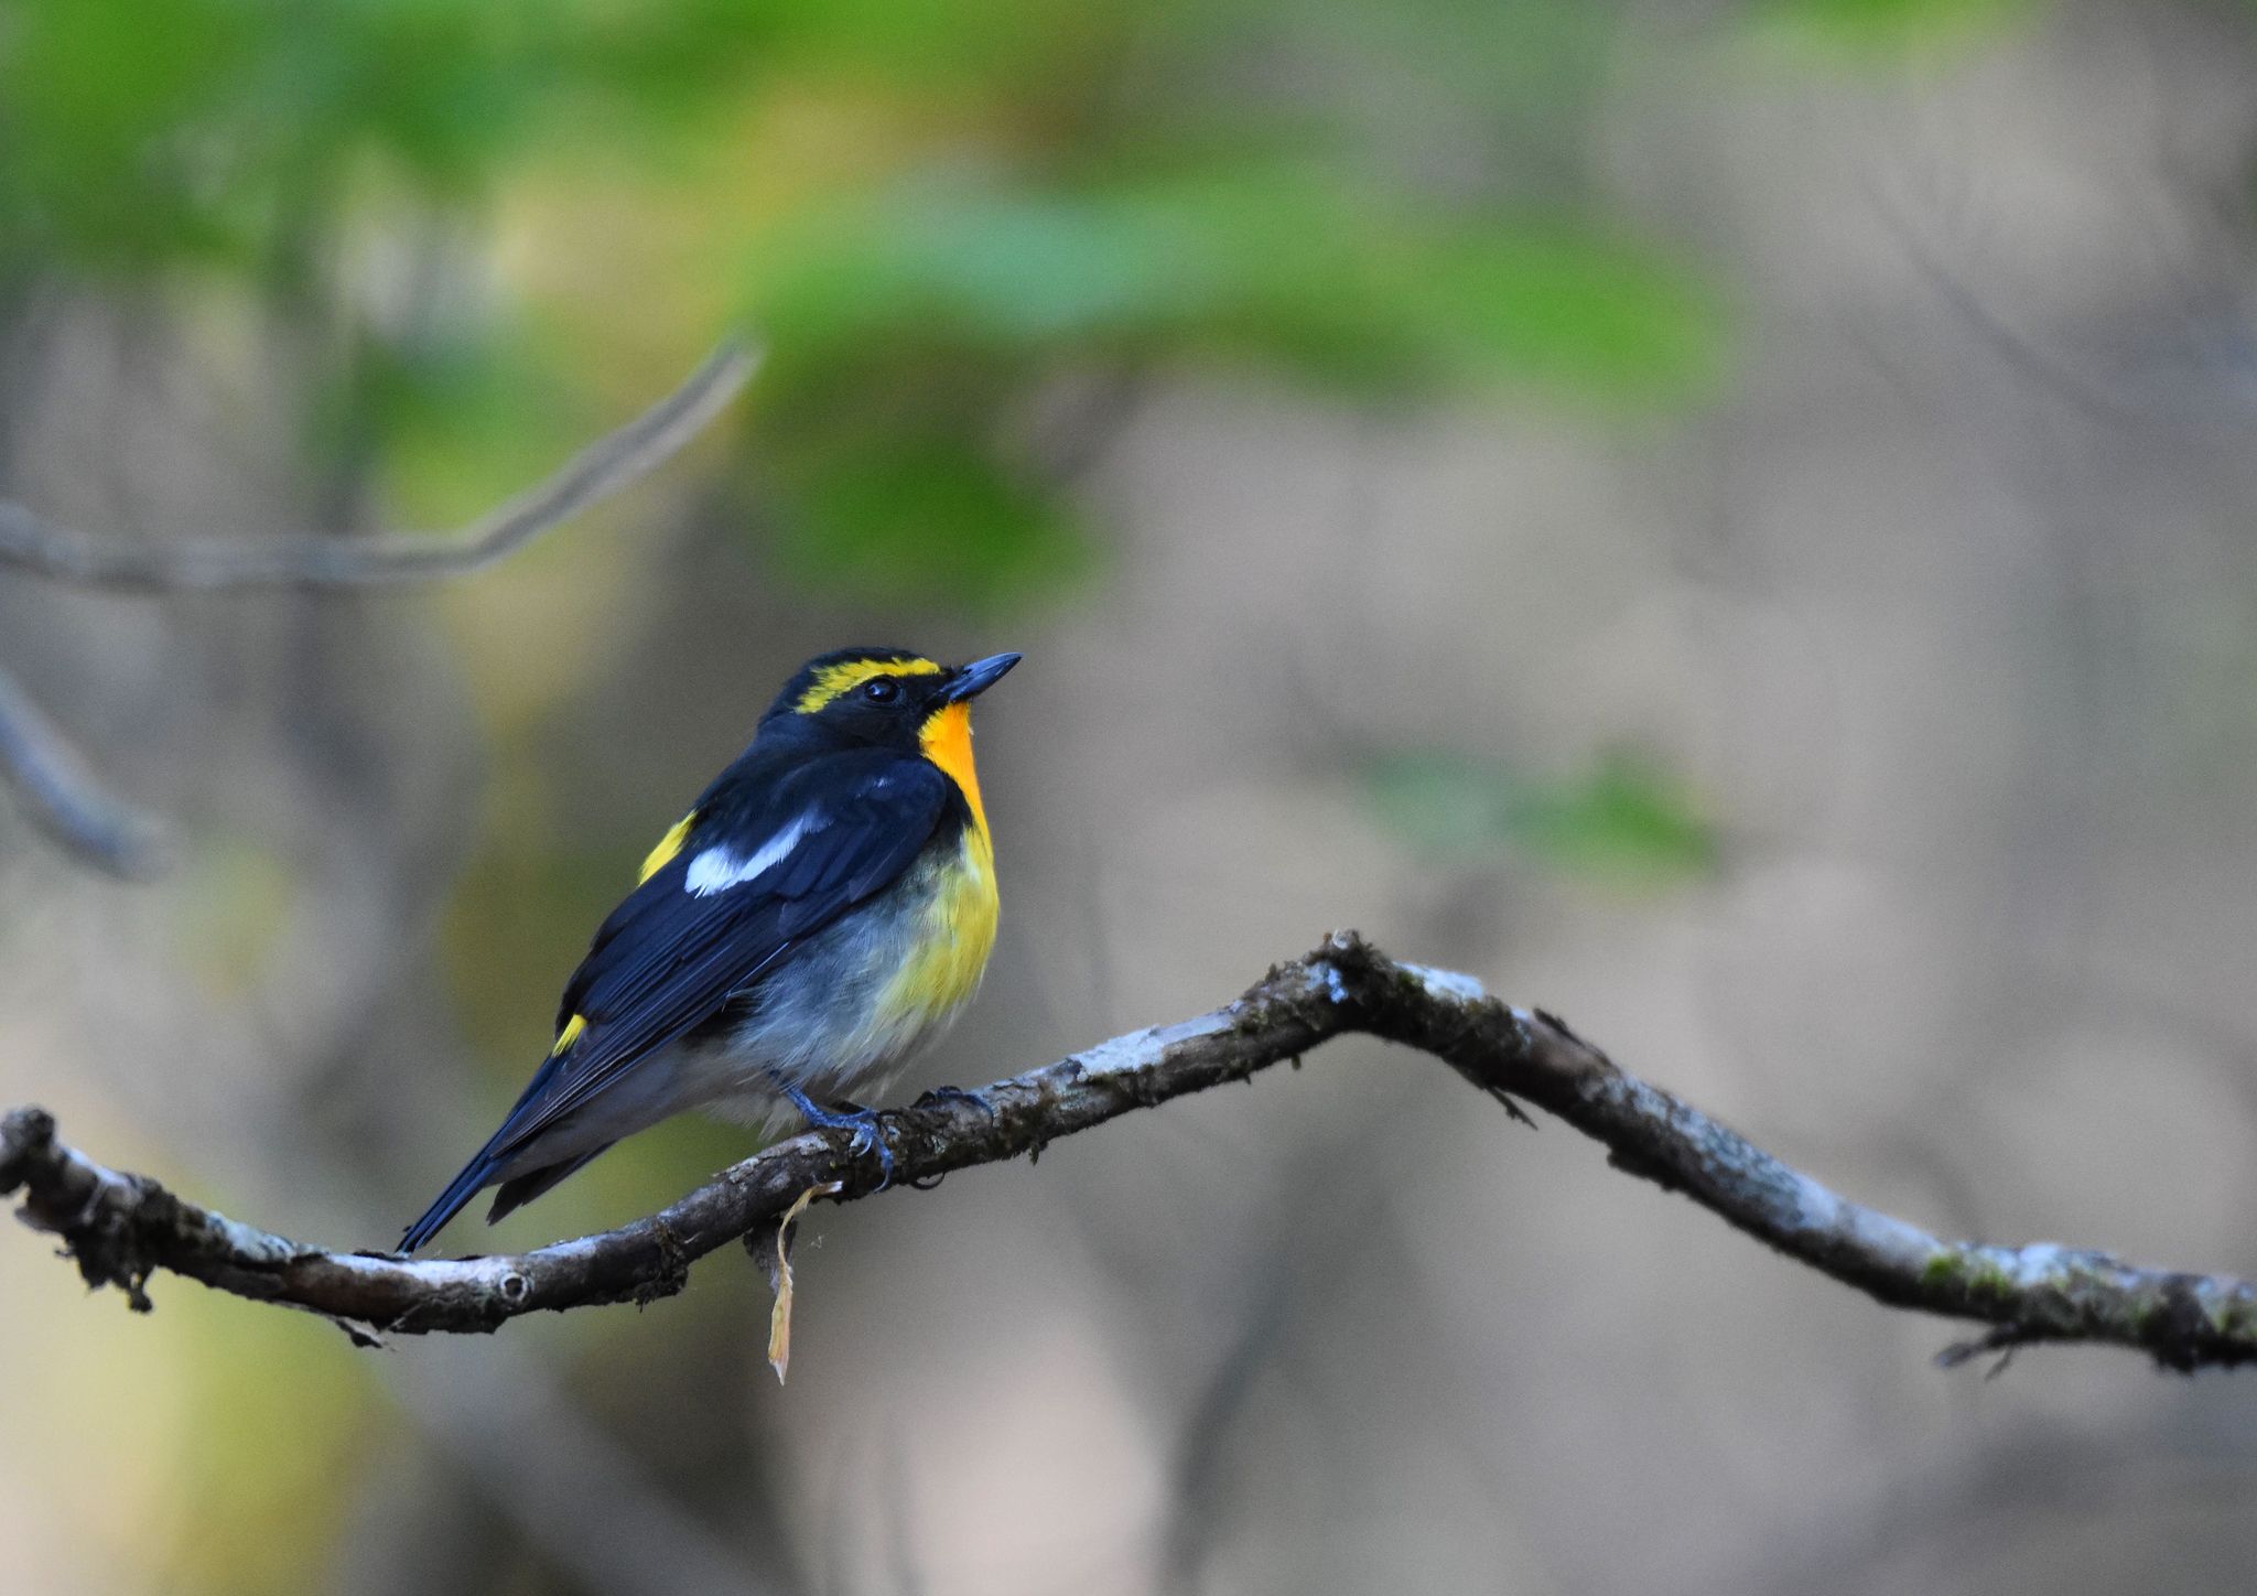
[[[894,885],[950,799],[955,786],[941,770],[885,749],[803,761],[774,781],[715,783],[682,849],[605,919],[564,986],[557,1027],[573,1016],[582,1023],[571,1047],[542,1063],[404,1246],[427,1242],[542,1131],[720,1014],[799,941]],[[781,847],[794,826],[797,838]],[[709,862],[711,889],[693,889],[706,856],[720,851],[743,867],[772,844],[779,856],[765,869],[711,885],[729,871]]]

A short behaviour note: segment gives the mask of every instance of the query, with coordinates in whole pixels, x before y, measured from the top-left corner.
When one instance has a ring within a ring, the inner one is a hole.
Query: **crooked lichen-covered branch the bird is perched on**
[[[1135,1108],[1244,1081],[1318,1043],[1370,1034],[1449,1063],[1510,1106],[1544,1108],[1605,1142],[1630,1174],[1684,1192],[1727,1224],[1891,1307],[1970,1318],[1986,1332],[1946,1354],[2038,1341],[2137,1348],[2176,1370],[2257,1359],[2257,1287],[2221,1275],[2137,1269],[2054,1244],[1946,1242],[1862,1208],[1621,1070],[1539,1009],[1514,1009],[1447,971],[1399,964],[1354,932],[1280,964],[1237,1002],[1133,1032],[984,1088],[887,1115],[898,1185],[1038,1154]],[[867,1196],[876,1158],[842,1135],[799,1135],[724,1169],[673,1208],[618,1230],[533,1253],[415,1262],[330,1253],[185,1203],[144,1176],[104,1169],[18,1108],[0,1122],[0,1194],[63,1239],[90,1284],[147,1309],[156,1271],[323,1314],[359,1341],[494,1330],[535,1309],[641,1303],[679,1291],[688,1264],[763,1224],[808,1187]]]

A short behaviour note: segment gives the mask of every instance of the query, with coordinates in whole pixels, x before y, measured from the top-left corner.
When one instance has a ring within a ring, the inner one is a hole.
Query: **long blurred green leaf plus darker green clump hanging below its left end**
[[[1165,361],[1381,397],[1521,377],[1650,406],[1720,363],[1715,307],[1652,251],[1284,160],[919,172],[792,219],[758,280],[765,406],[801,483],[785,549],[803,580],[887,598],[1077,567],[1068,501],[995,436],[1052,372]]]

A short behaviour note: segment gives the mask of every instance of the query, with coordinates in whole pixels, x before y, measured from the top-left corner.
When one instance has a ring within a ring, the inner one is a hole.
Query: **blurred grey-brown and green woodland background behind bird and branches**
[[[2257,9],[0,9],[0,490],[451,526],[731,325],[740,406],[436,591],[0,571],[172,822],[0,808],[0,1102],[384,1246],[783,673],[1020,648],[912,1084],[1332,926],[1950,1233],[2257,1273]],[[673,1124],[501,1230],[747,1151]],[[0,1589],[2243,1591],[2257,1395],[1939,1373],[1510,1126],[1300,1075],[366,1354],[0,1246]]]

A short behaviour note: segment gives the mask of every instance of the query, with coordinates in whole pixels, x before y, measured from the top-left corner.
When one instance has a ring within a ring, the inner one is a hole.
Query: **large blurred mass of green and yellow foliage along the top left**
[[[1399,79],[1438,126],[1528,144],[1611,25],[1569,0],[16,0],[0,296],[226,293],[341,334],[316,458],[440,521],[749,321],[774,567],[1011,605],[1090,562],[1027,420],[1059,377],[1700,395],[1715,296],[1571,160],[1431,169],[1372,149],[1359,93]],[[433,302],[418,253],[494,226],[524,269]]]

